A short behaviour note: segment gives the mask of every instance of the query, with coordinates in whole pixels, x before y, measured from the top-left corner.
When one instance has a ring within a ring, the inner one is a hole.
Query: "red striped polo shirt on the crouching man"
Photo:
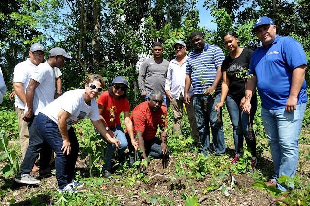
[[[162,117],[164,115],[164,118]],[[137,105],[131,114],[131,121],[133,124],[134,134],[143,132],[144,140],[152,140],[157,133],[158,124],[161,127],[167,126],[167,110],[166,106],[162,104],[161,109],[154,113],[150,110],[148,101]]]

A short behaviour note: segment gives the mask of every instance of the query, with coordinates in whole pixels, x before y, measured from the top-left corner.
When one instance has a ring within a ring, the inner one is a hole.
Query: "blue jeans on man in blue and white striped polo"
[[[217,103],[220,102],[221,94],[214,95]],[[204,111],[204,100],[207,99],[207,112]],[[214,109],[216,103],[212,96],[205,96],[203,94],[194,95],[193,106],[195,109],[195,117],[197,122],[197,131],[200,136],[199,150],[203,155],[210,155],[210,127],[212,132],[213,148],[216,155],[225,155],[225,140],[222,123],[222,110],[219,109],[221,122],[217,121],[217,111]]]

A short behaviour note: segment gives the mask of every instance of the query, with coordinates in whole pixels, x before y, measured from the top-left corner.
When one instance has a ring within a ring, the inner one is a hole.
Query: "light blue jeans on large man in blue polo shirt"
[[[285,108],[267,110],[262,108],[262,120],[268,137],[272,160],[275,165],[273,180],[280,190],[286,191],[277,178],[286,175],[294,178],[299,155],[299,134],[307,103],[296,106],[292,113],[286,113]],[[292,186],[291,186],[292,187]]]

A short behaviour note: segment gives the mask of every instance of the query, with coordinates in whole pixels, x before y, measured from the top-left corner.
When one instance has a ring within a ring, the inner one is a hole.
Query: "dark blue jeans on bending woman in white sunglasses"
[[[71,152],[63,154],[62,136],[59,132],[58,125],[46,115],[39,113],[37,127],[42,137],[53,148],[56,153],[55,166],[57,171],[58,187],[63,189],[67,184],[72,182],[74,168],[78,159],[79,143],[77,136],[71,127],[68,130],[69,140],[71,143]]]

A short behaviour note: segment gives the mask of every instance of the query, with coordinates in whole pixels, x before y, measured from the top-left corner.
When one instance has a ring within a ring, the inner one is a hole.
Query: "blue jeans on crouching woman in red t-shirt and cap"
[[[109,126],[109,128],[114,132],[116,139],[121,141],[121,145],[118,148],[118,156],[122,156],[124,154],[125,149],[127,148],[128,142],[126,136],[124,134],[124,130],[121,125]],[[105,138],[103,138],[105,140]],[[115,144],[107,143],[107,148],[105,149],[105,164],[103,165],[103,169],[110,170],[111,169],[111,161],[114,155],[116,146]]]

